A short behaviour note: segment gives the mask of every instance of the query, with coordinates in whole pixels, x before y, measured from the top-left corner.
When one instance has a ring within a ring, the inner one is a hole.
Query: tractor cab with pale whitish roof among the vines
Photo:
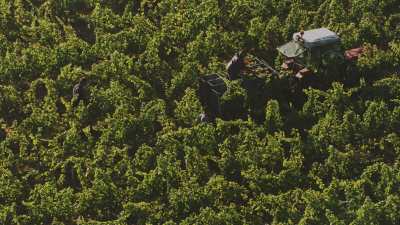
[[[293,71],[299,79],[344,58],[339,36],[326,28],[295,33],[292,41],[277,50],[285,56],[282,68]]]

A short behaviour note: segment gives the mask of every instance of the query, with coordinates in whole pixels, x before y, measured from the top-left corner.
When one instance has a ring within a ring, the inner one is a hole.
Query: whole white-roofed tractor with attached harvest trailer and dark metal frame
[[[329,66],[344,68],[346,62],[356,60],[363,52],[362,47],[342,51],[339,36],[326,28],[295,33],[293,40],[277,50],[285,58],[281,66],[282,72],[286,71],[289,76],[279,73],[265,60],[241,51],[227,64],[227,75],[211,74],[200,77],[198,95],[205,111],[200,116],[200,121],[210,122],[221,115],[220,98],[227,90],[225,77],[229,80],[244,80],[250,77],[261,81],[286,79],[286,87],[281,88],[287,88],[287,92],[293,94],[304,87],[312,86],[313,82],[316,83],[318,74],[332,68]],[[244,88],[254,89],[255,86],[250,84]]]

